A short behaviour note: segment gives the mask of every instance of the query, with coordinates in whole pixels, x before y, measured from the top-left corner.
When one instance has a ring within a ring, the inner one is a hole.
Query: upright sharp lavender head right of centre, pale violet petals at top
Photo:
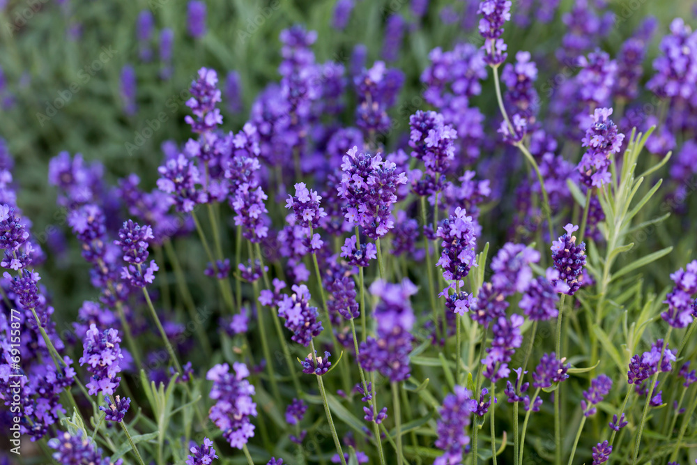
[[[443,268],[445,280],[459,281],[468,275],[470,267],[477,266],[476,229],[472,217],[460,207],[438,227],[436,236],[443,239],[443,250],[436,266]]]

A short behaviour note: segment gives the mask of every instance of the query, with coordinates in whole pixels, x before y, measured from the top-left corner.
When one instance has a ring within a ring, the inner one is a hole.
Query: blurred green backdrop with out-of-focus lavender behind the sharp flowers
[[[507,24],[503,36],[510,44],[508,62],[514,61],[518,50],[529,50],[537,62],[541,119],[550,100],[542,88],[576,73],[565,68],[556,52],[571,27],[562,17],[581,2],[561,1],[558,8],[551,8],[551,20],[539,22],[535,15],[547,3],[555,2],[514,1],[514,22]],[[61,151],[82,153],[86,160],[102,162],[107,182],[115,184],[135,172],[141,188],[151,190],[163,158],[162,142],[182,144],[191,135],[184,123],[188,114],[184,102],[197,70],[201,66],[217,70],[223,127],[236,132],[249,117],[259,91],[278,81],[279,32],[293,24],[317,31],[313,49],[318,63],[343,63],[350,73],[356,47],[360,55],[362,45],[367,67],[384,60],[404,72],[404,87],[390,110],[396,130],[381,140],[393,148],[408,130],[408,115],[429,108],[422,98],[420,75],[429,66],[431,49],[482,44],[477,6],[475,0],[0,0],[0,151],[15,160],[18,204],[33,221],[33,233],[49,256],[42,277],[56,312],[66,312],[70,319],[82,300],[95,298],[95,291],[83,285],[88,265],[79,256],[65,214],[56,206],[56,192],[47,183],[50,158]],[[613,57],[645,17],[657,18],[642,82],[652,74],[652,60],[671,20],[680,16],[694,22],[694,4],[689,1],[595,1],[589,8],[605,29],[589,36],[583,52],[599,46]],[[486,79],[482,86],[470,105],[485,115],[489,142],[482,142],[480,162],[486,162],[505,148],[492,142],[498,139],[500,121],[493,82]],[[641,93],[647,93],[643,84]],[[353,107],[348,107],[339,118],[351,125]],[[576,152],[571,151],[574,162],[580,156],[578,149],[576,145]],[[482,178],[496,178],[484,169]],[[498,218],[514,215],[514,187],[503,187],[507,197],[493,196],[489,208],[504,214]],[[498,224],[486,214],[480,221],[492,238],[503,238],[510,227],[510,221],[499,219]],[[689,219],[674,221],[678,224],[673,227],[681,227],[681,222],[683,228],[694,227]],[[68,247],[63,247],[64,241]],[[650,250],[666,241],[674,238],[659,229],[643,246]],[[685,241],[682,250],[693,246]],[[194,243],[182,251],[185,266],[204,266],[198,247]],[[682,266],[680,250],[677,245],[671,257]],[[668,271],[676,268],[670,261],[661,261],[649,272],[657,284],[668,283]],[[202,273],[195,275],[192,279],[201,280],[203,291],[212,286]]]

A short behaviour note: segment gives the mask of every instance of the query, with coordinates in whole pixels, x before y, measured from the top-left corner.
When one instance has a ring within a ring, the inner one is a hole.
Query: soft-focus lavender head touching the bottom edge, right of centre
[[[462,386],[455,386],[452,394],[443,399],[441,418],[436,429],[436,447],[445,453],[436,458],[434,465],[460,464],[466,448],[470,443],[470,436],[466,433],[466,427],[470,424],[470,413],[477,411],[477,401],[472,398],[472,392]]]

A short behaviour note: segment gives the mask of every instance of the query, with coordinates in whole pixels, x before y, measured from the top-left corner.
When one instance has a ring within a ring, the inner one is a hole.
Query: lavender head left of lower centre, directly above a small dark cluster
[[[322,322],[317,319],[317,307],[309,305],[307,286],[294,284],[291,289],[293,294],[284,296],[278,303],[278,316],[286,320],[286,328],[293,332],[291,340],[307,347],[322,332]]]

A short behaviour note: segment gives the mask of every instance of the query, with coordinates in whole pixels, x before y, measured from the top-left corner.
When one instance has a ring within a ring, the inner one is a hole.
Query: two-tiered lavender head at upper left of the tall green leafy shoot
[[[581,181],[590,187],[602,187],[611,181],[608,171],[611,155],[618,153],[625,140],[624,134],[619,134],[617,126],[610,119],[612,108],[596,108],[592,116],[593,123],[586,130],[582,146],[588,147],[579,162]]]

